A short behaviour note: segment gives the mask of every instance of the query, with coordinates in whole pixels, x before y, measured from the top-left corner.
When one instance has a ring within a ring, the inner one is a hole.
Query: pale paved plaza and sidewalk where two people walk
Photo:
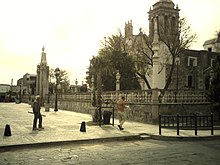
[[[220,138],[220,130],[214,130],[211,136],[210,130],[199,130],[198,136],[194,131],[180,130],[180,136],[176,135],[176,130],[162,129],[162,135],[158,134],[158,125],[143,124],[139,122],[126,121],[124,130],[118,129],[118,120],[115,125],[102,125],[101,127],[92,122],[89,114],[76,113],[59,110],[54,112],[50,109],[45,112],[42,108],[43,126],[42,131],[32,131],[33,114],[31,106],[28,104],[0,103],[0,148],[20,145],[35,145],[61,142],[84,142],[84,141],[104,141],[119,139],[171,139],[172,138]],[[86,122],[86,132],[80,132],[81,123]],[[112,119],[110,121],[112,123]],[[5,125],[9,124],[11,136],[4,136]]]

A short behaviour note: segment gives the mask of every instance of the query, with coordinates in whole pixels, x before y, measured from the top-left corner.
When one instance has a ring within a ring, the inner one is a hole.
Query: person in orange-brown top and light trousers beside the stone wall
[[[123,130],[122,127],[125,122],[125,97],[121,96],[121,98],[117,101],[117,110],[118,110],[118,119],[119,119],[119,125],[118,128],[120,130]]]

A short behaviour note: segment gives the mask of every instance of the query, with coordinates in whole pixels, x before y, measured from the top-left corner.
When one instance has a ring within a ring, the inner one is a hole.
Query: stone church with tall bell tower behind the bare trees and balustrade
[[[138,35],[133,35],[132,21],[128,21],[125,24],[125,42],[128,47],[131,48],[134,42],[141,43],[142,48],[145,48],[146,51],[144,53],[148,54],[149,59],[152,59],[152,61],[145,59],[145,62],[152,64],[149,65],[149,71],[146,73],[151,88],[164,89],[168,79],[172,59],[166,44],[162,41],[176,37],[176,42],[180,42],[179,35],[177,35],[180,20],[179,11],[178,5],[175,5],[172,0],[159,0],[153,4],[148,12],[148,36],[141,29]],[[220,55],[215,53],[220,52],[219,44],[220,35],[216,39],[205,41],[203,45],[205,50],[181,50],[179,56],[175,59],[175,68],[168,89],[207,89],[210,78],[207,70],[212,67],[215,57]],[[137,48],[138,44],[135,47]],[[135,60],[138,60],[140,51],[130,49],[130,53],[135,56]],[[140,81],[140,83],[142,89],[149,89],[145,82]]]

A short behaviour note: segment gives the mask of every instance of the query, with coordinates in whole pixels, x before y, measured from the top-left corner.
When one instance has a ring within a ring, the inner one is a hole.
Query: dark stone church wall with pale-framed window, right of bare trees
[[[184,50],[176,63],[170,89],[208,89],[210,75],[206,70],[212,67],[217,55],[220,54],[205,50]]]

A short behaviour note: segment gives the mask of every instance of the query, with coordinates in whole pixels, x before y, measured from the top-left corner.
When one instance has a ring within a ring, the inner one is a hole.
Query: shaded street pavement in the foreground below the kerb
[[[217,165],[220,140],[75,143],[0,151],[0,164]]]

